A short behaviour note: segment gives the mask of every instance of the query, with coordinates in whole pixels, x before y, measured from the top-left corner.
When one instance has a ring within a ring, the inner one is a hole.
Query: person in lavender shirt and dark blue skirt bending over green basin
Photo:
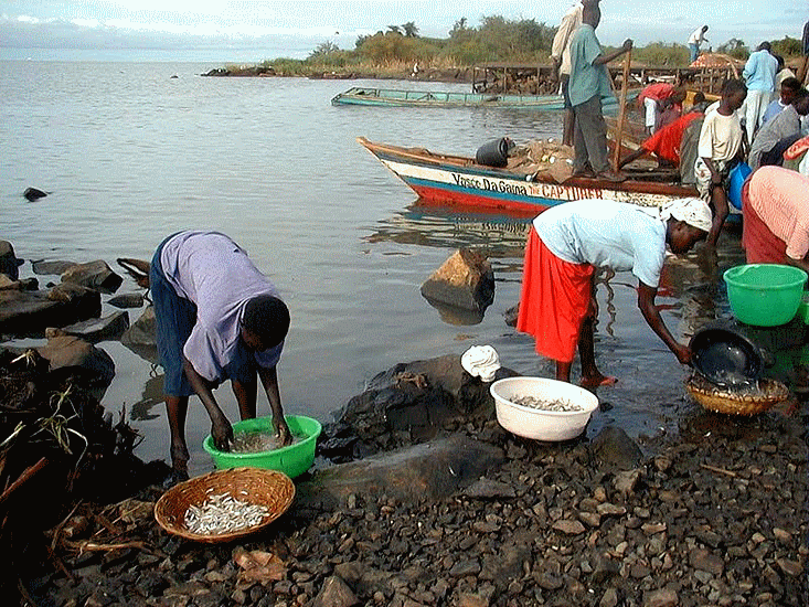
[[[276,365],[289,310],[247,253],[217,232],[180,232],[155,252],[149,283],[171,430],[173,480],[188,478],[185,416],[196,394],[211,417],[214,446],[230,450],[233,428],[213,388],[231,380],[242,419],[256,416],[256,374],[283,445],[291,441]]]

